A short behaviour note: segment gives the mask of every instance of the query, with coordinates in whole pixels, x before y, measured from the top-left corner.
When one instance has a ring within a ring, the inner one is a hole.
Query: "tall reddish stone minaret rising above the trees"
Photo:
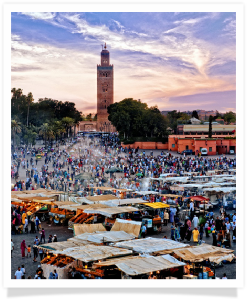
[[[112,131],[108,120],[107,107],[113,104],[113,65],[106,43],[101,51],[101,64],[97,65],[97,130]]]

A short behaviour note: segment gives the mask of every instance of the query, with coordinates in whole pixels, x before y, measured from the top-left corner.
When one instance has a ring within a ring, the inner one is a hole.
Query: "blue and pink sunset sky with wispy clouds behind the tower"
[[[115,102],[236,111],[233,12],[12,12],[11,87],[96,113],[105,42]]]

